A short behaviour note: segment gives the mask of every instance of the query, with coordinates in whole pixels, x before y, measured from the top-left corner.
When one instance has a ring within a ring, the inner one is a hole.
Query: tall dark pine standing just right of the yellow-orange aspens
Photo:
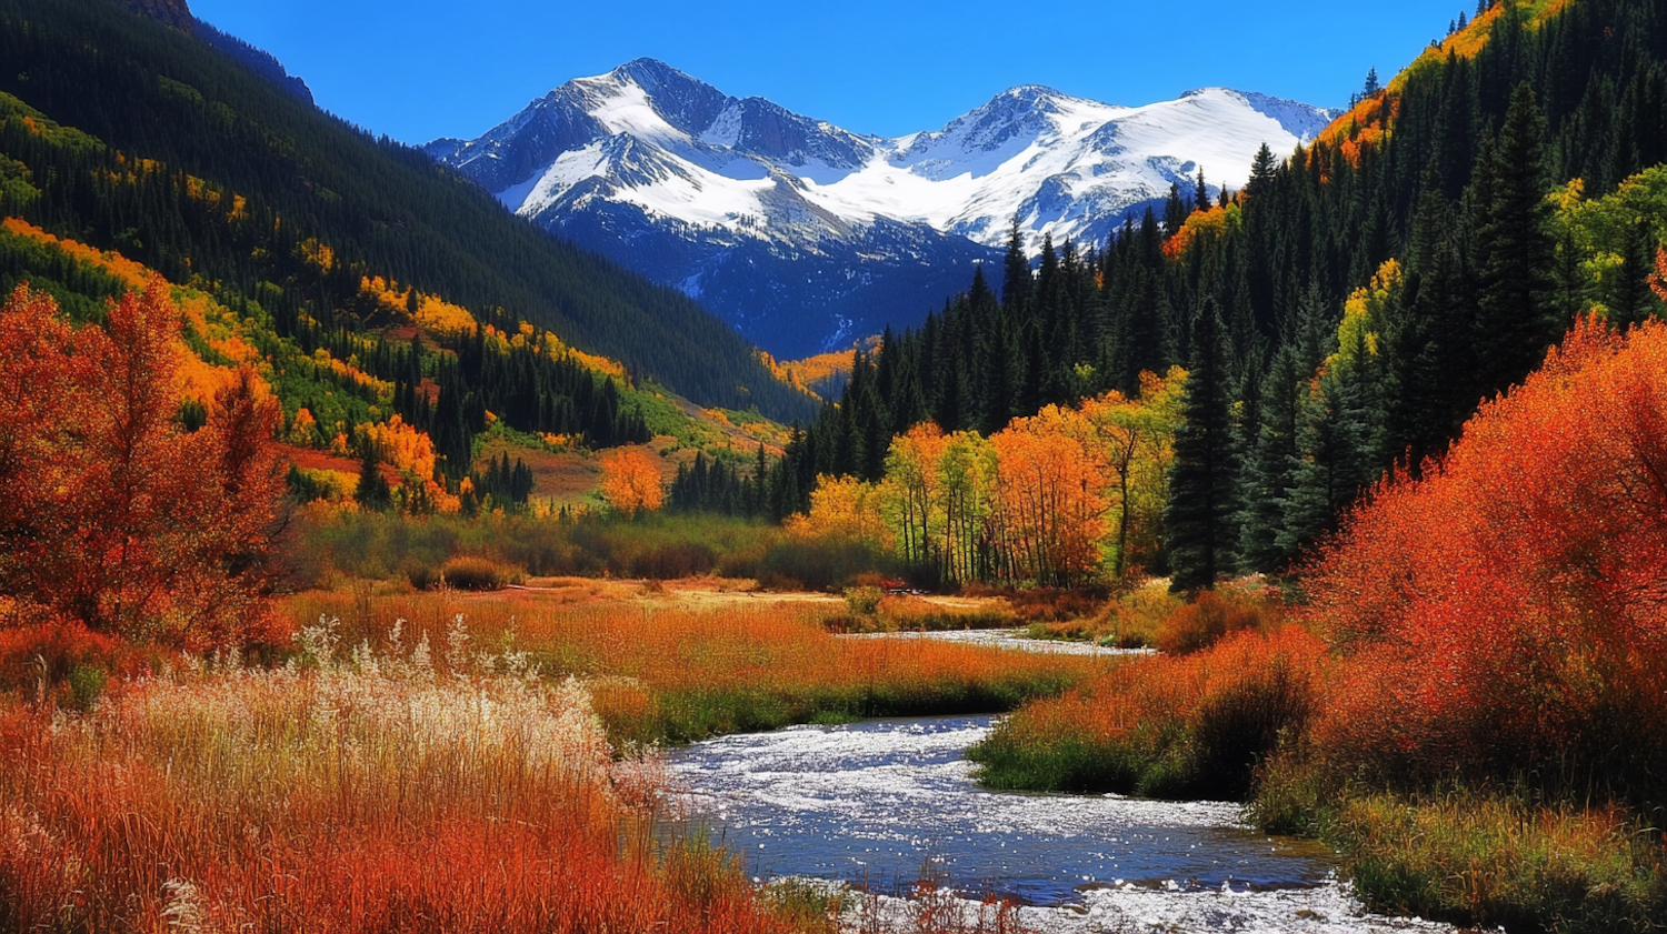
[[[1215,301],[1205,301],[1192,331],[1192,366],[1184,393],[1185,425],[1175,431],[1164,526],[1170,589],[1215,586],[1237,568],[1239,491],[1234,451],[1227,333]]]

